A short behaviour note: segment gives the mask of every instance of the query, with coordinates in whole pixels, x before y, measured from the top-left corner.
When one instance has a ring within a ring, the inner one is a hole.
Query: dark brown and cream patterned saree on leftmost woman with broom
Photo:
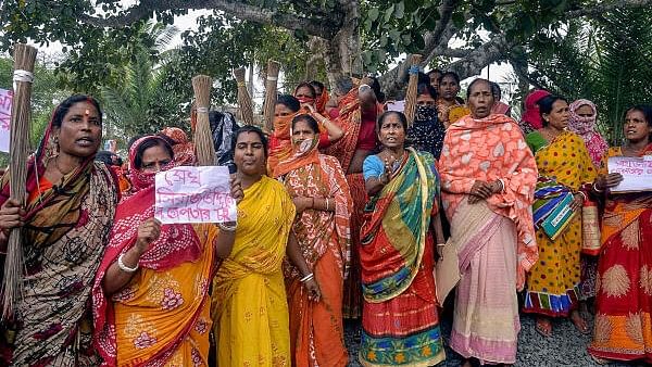
[[[63,179],[59,190],[42,190],[27,206],[35,215],[23,229],[25,293],[16,307],[13,362],[3,365],[100,363],[92,349],[90,293],[118,200],[116,179],[99,162]]]

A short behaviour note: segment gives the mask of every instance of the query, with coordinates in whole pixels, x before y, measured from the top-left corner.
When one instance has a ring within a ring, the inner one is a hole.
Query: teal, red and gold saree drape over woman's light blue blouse
[[[430,215],[437,212],[435,159],[412,148],[389,184],[365,208],[362,226],[362,292],[380,303],[403,293],[418,273]]]

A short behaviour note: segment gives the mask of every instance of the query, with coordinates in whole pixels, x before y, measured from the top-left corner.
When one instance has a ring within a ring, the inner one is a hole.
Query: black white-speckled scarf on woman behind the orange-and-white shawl
[[[444,136],[446,128],[437,116],[437,110],[417,105],[414,123],[408,128],[408,140],[412,145],[439,160]]]

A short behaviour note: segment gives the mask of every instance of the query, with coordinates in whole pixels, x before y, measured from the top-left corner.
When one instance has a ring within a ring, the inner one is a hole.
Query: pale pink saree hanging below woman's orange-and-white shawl
[[[451,349],[481,364],[514,364],[521,321],[516,298],[516,227],[485,202],[463,200],[447,245],[457,249],[460,283]],[[471,229],[471,230],[469,230]]]

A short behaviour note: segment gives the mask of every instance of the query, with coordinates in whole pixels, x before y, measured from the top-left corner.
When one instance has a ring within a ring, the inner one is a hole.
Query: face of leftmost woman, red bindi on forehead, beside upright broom
[[[61,153],[85,159],[96,154],[102,141],[102,123],[98,110],[90,102],[73,104],[54,128]]]

